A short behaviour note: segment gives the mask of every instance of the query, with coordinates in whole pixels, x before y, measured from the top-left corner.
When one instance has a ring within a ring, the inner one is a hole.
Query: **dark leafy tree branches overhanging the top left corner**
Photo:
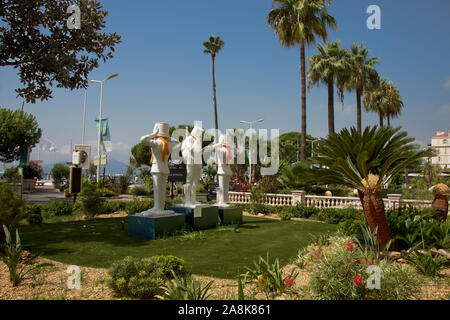
[[[77,4],[81,28],[69,29],[66,10]],[[108,12],[94,0],[8,0],[0,6],[0,66],[12,66],[27,102],[52,98],[50,87],[86,88],[99,60],[113,58],[116,33],[102,33]]]

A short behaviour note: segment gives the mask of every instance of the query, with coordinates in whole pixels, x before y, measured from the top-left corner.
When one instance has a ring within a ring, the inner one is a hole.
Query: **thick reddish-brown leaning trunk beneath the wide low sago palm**
[[[384,249],[387,243],[392,239],[391,229],[387,222],[384,211],[384,203],[381,192],[363,193],[358,191],[359,198],[364,209],[364,215],[369,223],[370,230],[374,231],[378,227],[377,236],[380,249]],[[392,243],[390,250],[399,250],[397,243]]]

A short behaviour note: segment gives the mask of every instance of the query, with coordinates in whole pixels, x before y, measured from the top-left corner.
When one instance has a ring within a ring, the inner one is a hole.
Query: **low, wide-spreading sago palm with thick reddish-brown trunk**
[[[336,184],[357,189],[364,215],[372,231],[378,228],[378,243],[381,248],[391,240],[391,231],[386,219],[382,186],[403,170],[429,156],[428,150],[419,150],[399,128],[366,127],[360,133],[355,127],[344,128],[338,134],[321,140],[316,162],[321,169],[305,170],[308,181]],[[398,250],[394,243],[391,249]]]

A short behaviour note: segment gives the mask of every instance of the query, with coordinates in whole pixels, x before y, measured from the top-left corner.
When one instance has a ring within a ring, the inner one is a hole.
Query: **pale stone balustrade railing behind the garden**
[[[232,203],[250,203],[250,192],[230,191],[228,200]],[[383,199],[386,210],[415,207],[419,209],[431,208],[430,200],[408,200],[401,199],[401,194],[389,194],[387,199]],[[304,191],[292,191],[291,194],[267,193],[263,204],[270,206],[295,206],[305,204],[307,207],[316,208],[356,208],[362,209],[361,201],[358,197],[329,197],[306,195]]]

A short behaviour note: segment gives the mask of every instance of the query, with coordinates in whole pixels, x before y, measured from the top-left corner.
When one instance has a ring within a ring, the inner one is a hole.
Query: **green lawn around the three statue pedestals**
[[[125,221],[125,230],[120,221]],[[267,252],[286,264],[309,244],[311,234],[335,229],[318,222],[244,217],[240,233],[233,227],[219,227],[203,231],[203,236],[194,233],[159,240],[128,237],[127,218],[28,225],[19,231],[25,249],[66,264],[108,268],[126,256],[171,254],[183,258],[194,274],[235,278]]]

